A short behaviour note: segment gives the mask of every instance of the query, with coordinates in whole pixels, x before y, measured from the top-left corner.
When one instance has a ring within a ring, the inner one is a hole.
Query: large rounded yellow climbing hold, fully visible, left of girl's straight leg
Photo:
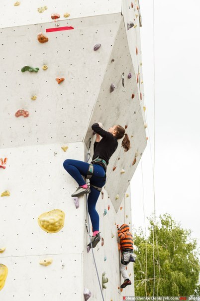
[[[56,233],[64,227],[65,213],[60,209],[54,209],[42,213],[38,217],[38,224],[48,233]]]

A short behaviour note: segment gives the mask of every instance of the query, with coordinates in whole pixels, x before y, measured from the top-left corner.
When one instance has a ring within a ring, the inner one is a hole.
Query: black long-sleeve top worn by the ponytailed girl
[[[99,134],[102,137],[100,142],[95,142],[94,144],[93,160],[99,156],[108,164],[109,158],[117,149],[117,139],[111,133],[101,129],[98,123],[94,123],[92,125],[92,129],[95,133]]]

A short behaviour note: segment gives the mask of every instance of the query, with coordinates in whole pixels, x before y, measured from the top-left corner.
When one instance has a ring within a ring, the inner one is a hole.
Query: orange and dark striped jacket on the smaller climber
[[[128,225],[123,224],[118,228],[118,237],[120,238],[122,251],[124,251],[124,249],[133,250],[133,236],[129,231]]]

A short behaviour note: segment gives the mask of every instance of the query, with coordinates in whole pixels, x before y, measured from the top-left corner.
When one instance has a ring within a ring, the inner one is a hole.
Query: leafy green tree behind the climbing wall
[[[152,218],[149,221],[149,236],[145,237],[140,229],[134,239],[138,247],[134,263],[135,296],[197,295],[200,261],[191,230],[183,229],[169,214],[160,216],[155,226]]]

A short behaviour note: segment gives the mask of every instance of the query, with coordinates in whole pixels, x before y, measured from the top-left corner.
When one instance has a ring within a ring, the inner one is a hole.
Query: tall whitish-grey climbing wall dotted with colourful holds
[[[131,141],[110,159],[94,249],[104,300],[122,300],[134,287],[118,289],[116,224],[131,229],[129,183],[146,146],[138,1],[43,2],[0,4],[0,300],[80,301],[85,289],[101,300],[86,200],[74,203],[62,166],[85,160],[99,121]]]

